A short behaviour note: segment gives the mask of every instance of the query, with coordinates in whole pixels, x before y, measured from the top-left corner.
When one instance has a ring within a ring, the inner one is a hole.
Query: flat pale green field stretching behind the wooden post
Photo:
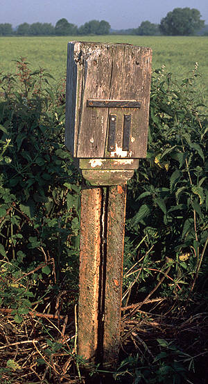
[[[55,37],[11,37],[0,38],[0,72],[13,72],[12,60],[26,57],[34,68],[44,67],[55,79],[65,74],[67,61],[67,42],[87,40],[100,42],[126,42],[144,45],[153,49],[153,69],[166,65],[166,70],[180,77],[187,76],[198,62],[202,74],[200,91],[208,94],[208,37],[172,37],[172,36],[55,36]]]

